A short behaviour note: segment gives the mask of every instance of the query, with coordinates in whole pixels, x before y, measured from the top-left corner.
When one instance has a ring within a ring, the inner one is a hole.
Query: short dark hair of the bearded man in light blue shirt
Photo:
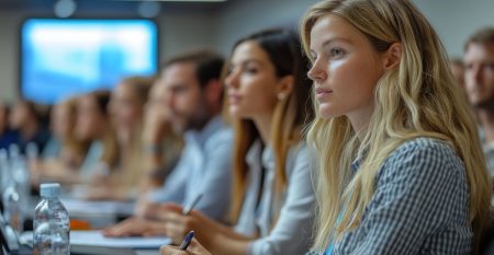
[[[210,50],[191,51],[169,59],[165,62],[161,71],[173,63],[181,62],[191,62],[195,66],[195,77],[201,88],[204,88],[211,80],[220,80],[224,59]]]

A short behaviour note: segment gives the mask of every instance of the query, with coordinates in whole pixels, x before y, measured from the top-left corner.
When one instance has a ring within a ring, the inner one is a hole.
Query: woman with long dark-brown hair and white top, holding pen
[[[307,252],[315,202],[302,127],[312,117],[307,61],[296,36],[269,30],[239,40],[225,79],[234,123],[231,228],[199,211],[164,213],[164,233],[179,243],[187,231],[215,255]],[[195,241],[194,241],[195,242]],[[202,254],[192,244],[183,254]],[[166,246],[162,254],[175,254]]]

